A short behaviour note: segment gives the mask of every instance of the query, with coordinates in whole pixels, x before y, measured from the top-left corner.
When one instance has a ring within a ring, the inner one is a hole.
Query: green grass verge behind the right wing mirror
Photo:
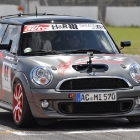
[[[107,30],[120,48],[120,42],[129,40],[131,46],[121,50],[125,54],[140,54],[140,27],[110,27]]]

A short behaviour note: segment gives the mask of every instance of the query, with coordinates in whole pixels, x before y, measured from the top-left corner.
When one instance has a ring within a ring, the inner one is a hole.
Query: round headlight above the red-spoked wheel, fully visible
[[[31,80],[39,85],[48,85],[52,81],[52,72],[47,67],[36,67],[31,71]]]

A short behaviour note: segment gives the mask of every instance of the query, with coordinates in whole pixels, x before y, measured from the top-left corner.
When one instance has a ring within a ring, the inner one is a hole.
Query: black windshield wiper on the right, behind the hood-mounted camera
[[[103,52],[103,51],[94,50],[94,49],[79,49],[79,50],[68,51],[65,53],[87,53],[87,52],[111,54],[111,52]]]

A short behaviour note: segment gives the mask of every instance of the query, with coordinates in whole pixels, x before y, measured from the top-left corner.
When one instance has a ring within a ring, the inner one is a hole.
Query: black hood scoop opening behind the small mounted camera
[[[80,64],[80,65],[72,65],[73,69],[78,72],[105,72],[108,70],[108,65],[106,64]]]

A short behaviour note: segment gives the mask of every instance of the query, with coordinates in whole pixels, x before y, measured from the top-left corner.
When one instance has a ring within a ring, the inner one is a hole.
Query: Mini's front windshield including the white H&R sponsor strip
[[[23,53],[37,51],[66,53],[75,50],[119,53],[101,24],[40,24],[24,26]]]

